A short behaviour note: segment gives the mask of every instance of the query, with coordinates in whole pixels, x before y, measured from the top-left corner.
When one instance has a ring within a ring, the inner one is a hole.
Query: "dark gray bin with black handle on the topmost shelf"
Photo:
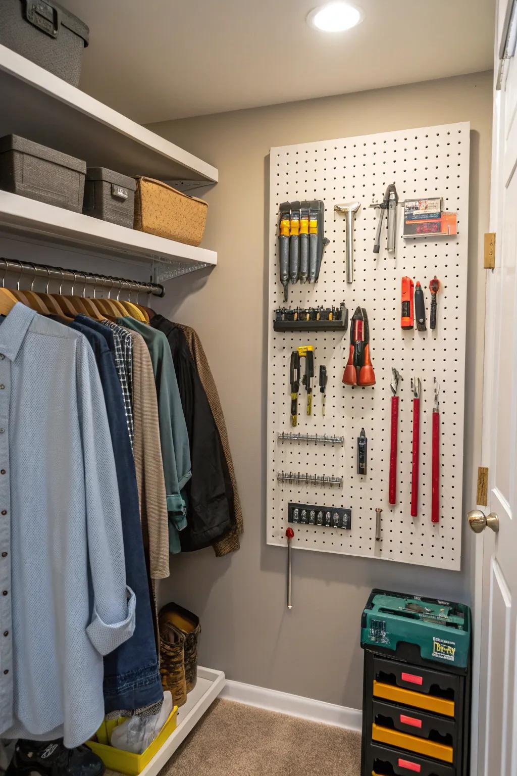
[[[90,30],[54,0],[1,0],[0,43],[78,86]]]

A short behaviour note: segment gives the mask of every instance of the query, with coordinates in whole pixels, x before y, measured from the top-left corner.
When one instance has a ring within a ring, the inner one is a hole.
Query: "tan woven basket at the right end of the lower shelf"
[[[202,241],[209,210],[204,199],[178,192],[154,178],[135,180],[135,229],[188,245]]]

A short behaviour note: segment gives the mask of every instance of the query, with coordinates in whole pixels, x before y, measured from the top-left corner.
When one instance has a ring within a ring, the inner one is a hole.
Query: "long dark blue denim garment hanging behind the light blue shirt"
[[[153,613],[146,577],[135,464],[127,433],[122,387],[113,360],[115,334],[84,315],[76,316],[70,326],[81,331],[88,339],[101,378],[119,483],[126,579],[136,595],[133,636],[105,657],[105,714],[117,717],[153,715],[160,711],[164,691],[158,670]]]

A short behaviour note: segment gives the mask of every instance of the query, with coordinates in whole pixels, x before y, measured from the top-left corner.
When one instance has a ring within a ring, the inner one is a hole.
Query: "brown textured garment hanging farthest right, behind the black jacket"
[[[151,319],[158,323],[162,316],[156,315]],[[166,320],[166,319],[164,319]],[[217,557],[222,557],[228,553],[234,553],[240,548],[239,534],[243,533],[243,511],[240,507],[239,491],[237,490],[237,482],[235,476],[235,469],[233,468],[232,453],[229,449],[228,431],[226,431],[226,422],[224,414],[222,412],[221,401],[219,400],[219,393],[215,387],[215,380],[210,370],[209,361],[206,358],[205,351],[198,334],[190,326],[184,326],[183,324],[174,324],[183,331],[187,340],[188,348],[192,354],[192,358],[195,361],[196,369],[198,370],[199,379],[202,382],[202,386],[205,389],[206,397],[209,400],[210,408],[214,416],[215,423],[219,429],[219,437],[221,438],[222,449],[226,458],[226,464],[228,466],[230,480],[233,487],[233,510],[236,528],[230,528],[226,535],[222,536],[214,542],[214,552]]]

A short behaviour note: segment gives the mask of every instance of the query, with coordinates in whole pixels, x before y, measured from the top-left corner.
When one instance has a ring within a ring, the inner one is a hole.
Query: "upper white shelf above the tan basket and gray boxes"
[[[0,137],[15,133],[125,175],[217,182],[218,171],[0,45]]]

